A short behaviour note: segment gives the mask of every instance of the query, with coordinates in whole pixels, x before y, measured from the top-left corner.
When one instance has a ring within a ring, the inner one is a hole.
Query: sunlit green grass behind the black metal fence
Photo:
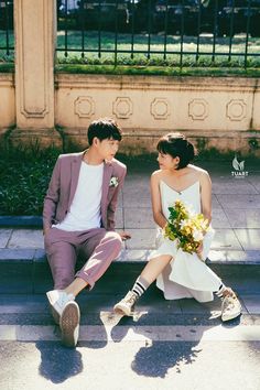
[[[260,37],[249,37],[247,58],[245,34],[236,35],[231,46],[229,43],[229,37],[214,41],[210,34],[202,34],[198,39],[184,36],[182,42],[181,36],[165,37],[163,33],[150,36],[145,33],[134,34],[133,40],[131,34],[119,33],[116,43],[115,33],[111,32],[101,32],[99,36],[97,31],[86,31],[84,35],[80,31],[68,31],[67,35],[58,31],[56,72],[259,77],[260,56],[256,54],[260,52]],[[0,31],[0,46],[4,44],[6,35]],[[12,35],[10,44],[13,44]],[[214,48],[215,56],[212,55]],[[149,51],[152,52],[150,56]],[[13,72],[13,53],[7,55],[0,50],[0,72]]]

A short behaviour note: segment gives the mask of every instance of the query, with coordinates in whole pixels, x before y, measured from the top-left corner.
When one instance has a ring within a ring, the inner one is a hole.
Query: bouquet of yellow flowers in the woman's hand
[[[203,214],[189,210],[181,201],[169,207],[169,223],[164,228],[164,237],[177,240],[177,248],[184,252],[195,253],[208,231],[208,220]]]

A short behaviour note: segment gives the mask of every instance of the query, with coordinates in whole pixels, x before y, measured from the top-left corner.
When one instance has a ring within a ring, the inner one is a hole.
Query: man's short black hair
[[[94,120],[88,128],[88,143],[93,144],[93,140],[97,137],[100,141],[106,139],[113,139],[121,141],[122,131],[113,119],[100,118]]]

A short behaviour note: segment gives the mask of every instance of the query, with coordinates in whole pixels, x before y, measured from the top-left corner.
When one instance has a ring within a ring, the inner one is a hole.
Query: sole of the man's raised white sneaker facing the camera
[[[80,313],[76,302],[68,302],[61,315],[59,327],[62,332],[62,344],[65,347],[74,348],[78,340]]]

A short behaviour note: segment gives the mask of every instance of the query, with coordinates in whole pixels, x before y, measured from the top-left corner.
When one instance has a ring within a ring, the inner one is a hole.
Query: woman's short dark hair
[[[156,149],[160,153],[170,154],[172,158],[178,156],[177,170],[187,166],[197,154],[193,143],[187,141],[185,136],[180,132],[171,132],[163,136],[158,142]]]

